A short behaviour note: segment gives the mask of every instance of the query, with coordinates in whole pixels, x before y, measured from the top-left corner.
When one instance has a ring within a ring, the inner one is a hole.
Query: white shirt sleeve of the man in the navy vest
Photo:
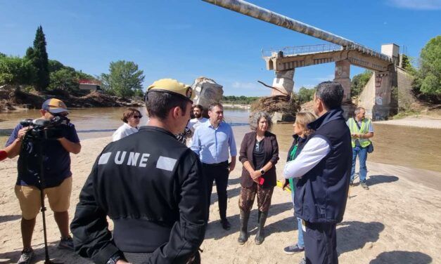
[[[283,169],[283,176],[286,179],[299,178],[304,176],[314,166],[319,164],[321,159],[331,151],[328,142],[323,138],[313,137],[306,143],[300,154],[289,161]]]

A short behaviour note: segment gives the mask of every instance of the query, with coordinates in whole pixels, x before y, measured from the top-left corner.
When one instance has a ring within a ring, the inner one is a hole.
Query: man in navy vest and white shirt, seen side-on
[[[314,112],[308,136],[299,156],[289,161],[285,178],[299,178],[295,192],[295,216],[302,219],[305,258],[301,263],[338,263],[335,226],[343,220],[351,172],[351,136],[341,103],[343,87],[325,81],[314,93]]]

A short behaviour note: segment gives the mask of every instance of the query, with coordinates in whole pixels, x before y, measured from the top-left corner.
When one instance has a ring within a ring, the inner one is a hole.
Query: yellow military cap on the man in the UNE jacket
[[[159,79],[158,81],[153,82],[151,86],[148,86],[147,93],[149,91],[172,93],[174,95],[179,95],[182,98],[189,100],[191,103],[193,103],[193,98],[194,98],[193,88],[175,79]]]

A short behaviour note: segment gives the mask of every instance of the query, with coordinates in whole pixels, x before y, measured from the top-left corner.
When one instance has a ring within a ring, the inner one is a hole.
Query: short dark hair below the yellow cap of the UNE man
[[[160,120],[165,120],[168,112],[173,107],[180,107],[182,113],[186,113],[186,106],[189,101],[179,95],[163,93],[161,91],[149,91],[146,96],[148,117],[155,117]]]

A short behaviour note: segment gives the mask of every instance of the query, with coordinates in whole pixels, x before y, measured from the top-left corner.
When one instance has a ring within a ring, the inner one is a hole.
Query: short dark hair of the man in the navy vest
[[[320,98],[327,110],[332,110],[341,106],[343,93],[343,86],[338,82],[324,81],[317,86],[315,96]]]

